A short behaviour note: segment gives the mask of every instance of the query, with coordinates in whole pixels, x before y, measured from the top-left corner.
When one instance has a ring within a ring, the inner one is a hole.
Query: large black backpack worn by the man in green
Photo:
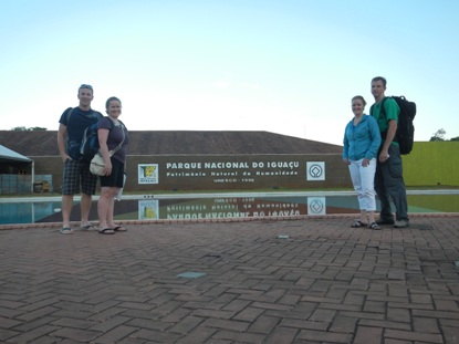
[[[380,104],[380,116],[386,116],[386,111],[384,110],[384,102],[388,97],[384,97]],[[394,140],[398,143],[400,147],[400,154],[409,154],[413,150],[413,144],[415,142],[415,126],[413,121],[416,116],[416,103],[408,102],[405,96],[389,96],[393,98],[400,108],[400,113],[398,114],[398,123],[397,123],[397,133],[395,134]],[[369,114],[373,115],[373,106],[369,108]],[[387,131],[380,133],[383,138],[386,138]]]

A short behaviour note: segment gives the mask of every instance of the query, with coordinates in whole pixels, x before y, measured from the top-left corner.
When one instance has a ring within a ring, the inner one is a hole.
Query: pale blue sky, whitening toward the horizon
[[[351,98],[417,104],[415,140],[459,136],[458,0],[0,3],[0,129],[56,131],[80,84],[129,131],[265,131],[342,145]]]

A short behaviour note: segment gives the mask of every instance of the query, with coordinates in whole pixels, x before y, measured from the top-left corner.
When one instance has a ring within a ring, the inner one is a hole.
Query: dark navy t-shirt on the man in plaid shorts
[[[72,113],[69,116],[70,111]],[[67,154],[72,159],[80,159],[80,145],[83,138],[84,131],[90,125],[97,123],[98,119],[103,118],[104,116],[92,108],[88,111],[83,111],[80,107],[69,107],[64,111],[59,119],[59,123],[63,124],[67,128],[67,142],[66,148]]]

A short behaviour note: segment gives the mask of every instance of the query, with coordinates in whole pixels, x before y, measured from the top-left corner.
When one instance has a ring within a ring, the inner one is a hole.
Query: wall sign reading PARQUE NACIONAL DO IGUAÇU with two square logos
[[[137,180],[173,190],[317,188],[327,165],[298,155],[158,156],[137,164]]]

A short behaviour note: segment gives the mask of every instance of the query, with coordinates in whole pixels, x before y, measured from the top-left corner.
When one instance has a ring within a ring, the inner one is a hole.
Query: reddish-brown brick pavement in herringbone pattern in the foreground
[[[458,220],[0,230],[0,342],[459,343]]]

